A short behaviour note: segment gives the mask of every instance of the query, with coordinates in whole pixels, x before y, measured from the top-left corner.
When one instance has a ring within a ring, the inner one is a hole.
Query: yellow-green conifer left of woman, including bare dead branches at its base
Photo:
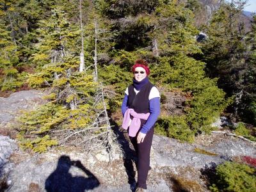
[[[20,117],[20,145],[35,152],[57,144],[84,150],[109,148],[113,136],[104,90],[93,81],[92,70],[78,71],[78,26],[68,21],[61,8],[52,9],[38,25],[37,51],[31,56],[37,72],[28,83],[32,88],[47,88],[49,102]]]

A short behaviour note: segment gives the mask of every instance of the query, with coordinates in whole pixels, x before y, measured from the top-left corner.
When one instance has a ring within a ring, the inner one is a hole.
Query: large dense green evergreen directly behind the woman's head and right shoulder
[[[109,6],[109,1],[104,2]],[[208,125],[229,101],[224,99],[225,93],[216,86],[216,79],[205,77],[205,64],[191,57],[201,53],[195,40],[198,31],[194,25],[193,12],[177,1],[158,1],[157,6],[150,11],[142,6],[138,14],[127,10],[120,13],[118,7],[123,5],[120,2],[115,1],[111,8],[108,7],[111,16],[108,16],[106,8],[101,12],[112,19],[111,29],[116,33],[113,57],[115,65],[121,67],[119,72],[123,73],[123,78],[120,78],[122,83],[116,75],[105,75],[105,78],[109,77],[106,82],[111,80],[118,86],[117,90],[124,91],[127,86],[124,83],[124,76],[127,77],[124,71],[129,70],[138,57],[150,60],[152,81],[169,92],[178,89],[191,97],[184,104],[187,107],[182,116],[162,116],[157,130],[172,132],[168,136],[189,141],[193,141],[196,132],[209,132],[211,129]],[[129,4],[126,7],[133,5],[126,3]],[[114,66],[108,68],[116,70]]]

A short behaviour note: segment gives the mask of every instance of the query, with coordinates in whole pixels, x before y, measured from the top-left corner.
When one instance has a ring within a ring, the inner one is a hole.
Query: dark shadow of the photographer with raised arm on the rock
[[[71,166],[76,166],[86,173],[88,177],[72,177],[68,172]],[[85,190],[96,188],[99,184],[97,177],[87,170],[81,161],[71,161],[70,157],[61,156],[56,170],[45,180],[45,190],[47,192],[84,192]]]

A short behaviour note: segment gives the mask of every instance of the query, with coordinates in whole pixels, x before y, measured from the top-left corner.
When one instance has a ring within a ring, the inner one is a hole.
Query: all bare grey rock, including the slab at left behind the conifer
[[[11,95],[10,100],[0,98],[0,124],[13,124],[20,109],[43,103],[41,95],[26,91]],[[112,156],[104,150],[85,154],[74,147],[31,154],[21,151],[15,140],[0,136],[0,173],[9,173],[8,191],[132,191],[136,157],[127,132],[116,128],[114,132],[123,154]],[[256,157],[255,145],[224,134],[200,135],[193,144],[154,135],[147,191],[177,191],[179,180],[193,183],[187,186],[189,191],[208,191],[200,170],[236,156]]]

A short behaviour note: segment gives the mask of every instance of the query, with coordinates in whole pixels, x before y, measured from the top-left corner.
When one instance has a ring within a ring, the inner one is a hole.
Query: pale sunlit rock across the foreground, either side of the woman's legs
[[[173,175],[195,180],[204,186],[204,180],[200,179],[200,169],[223,163],[234,156],[256,157],[253,145],[228,136],[205,147],[154,135],[152,148],[154,152],[151,163],[155,165],[148,176],[148,191],[173,191]],[[200,154],[194,151],[195,148],[216,155]],[[15,167],[9,175],[9,180],[12,180],[9,190],[29,191],[29,186],[33,184],[39,191],[55,188],[61,188],[61,191],[131,191],[129,170],[122,156],[113,161],[106,161],[108,158],[106,152],[84,154],[76,152],[74,148],[51,150],[46,154],[32,156],[17,152],[12,159]],[[202,188],[202,191],[207,189]]]

